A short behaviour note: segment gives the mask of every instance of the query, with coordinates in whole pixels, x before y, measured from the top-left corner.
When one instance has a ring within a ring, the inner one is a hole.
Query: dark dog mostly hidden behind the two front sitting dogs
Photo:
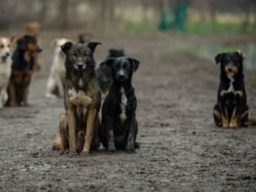
[[[124,56],[124,50],[123,49],[109,49],[108,50],[108,58],[116,58],[116,57],[123,57]],[[111,69],[104,65],[104,62],[99,64],[99,68],[96,69],[98,81],[99,81],[99,87],[102,91],[102,98],[105,98],[108,93],[108,89],[112,83],[112,76],[111,76]]]

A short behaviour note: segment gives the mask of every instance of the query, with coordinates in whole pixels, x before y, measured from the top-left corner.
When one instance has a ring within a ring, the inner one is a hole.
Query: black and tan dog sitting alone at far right
[[[221,63],[218,103],[213,116],[216,126],[244,126],[248,120],[248,106],[243,75],[243,53],[226,52],[216,55],[216,63]]]

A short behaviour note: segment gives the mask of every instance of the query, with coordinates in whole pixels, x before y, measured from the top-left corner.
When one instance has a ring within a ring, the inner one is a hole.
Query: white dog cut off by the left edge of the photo
[[[12,38],[0,37],[0,108],[4,107],[9,96],[7,87],[9,85],[10,74],[12,71],[12,59],[10,47]]]

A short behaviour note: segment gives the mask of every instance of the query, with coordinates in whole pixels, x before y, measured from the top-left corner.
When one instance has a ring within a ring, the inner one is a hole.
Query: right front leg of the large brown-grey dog
[[[93,129],[94,129],[94,121],[97,115],[96,108],[88,108],[88,116],[87,116],[87,129],[85,135],[85,144],[82,153],[88,154],[90,152],[91,143],[93,141]]]

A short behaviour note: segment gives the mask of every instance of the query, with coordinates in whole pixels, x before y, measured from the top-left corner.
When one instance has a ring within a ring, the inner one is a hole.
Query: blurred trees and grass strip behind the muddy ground
[[[179,12],[181,6],[184,10]],[[166,13],[172,18],[163,29]],[[43,29],[256,34],[255,0],[8,0],[0,7],[0,15],[2,30],[39,21]]]

